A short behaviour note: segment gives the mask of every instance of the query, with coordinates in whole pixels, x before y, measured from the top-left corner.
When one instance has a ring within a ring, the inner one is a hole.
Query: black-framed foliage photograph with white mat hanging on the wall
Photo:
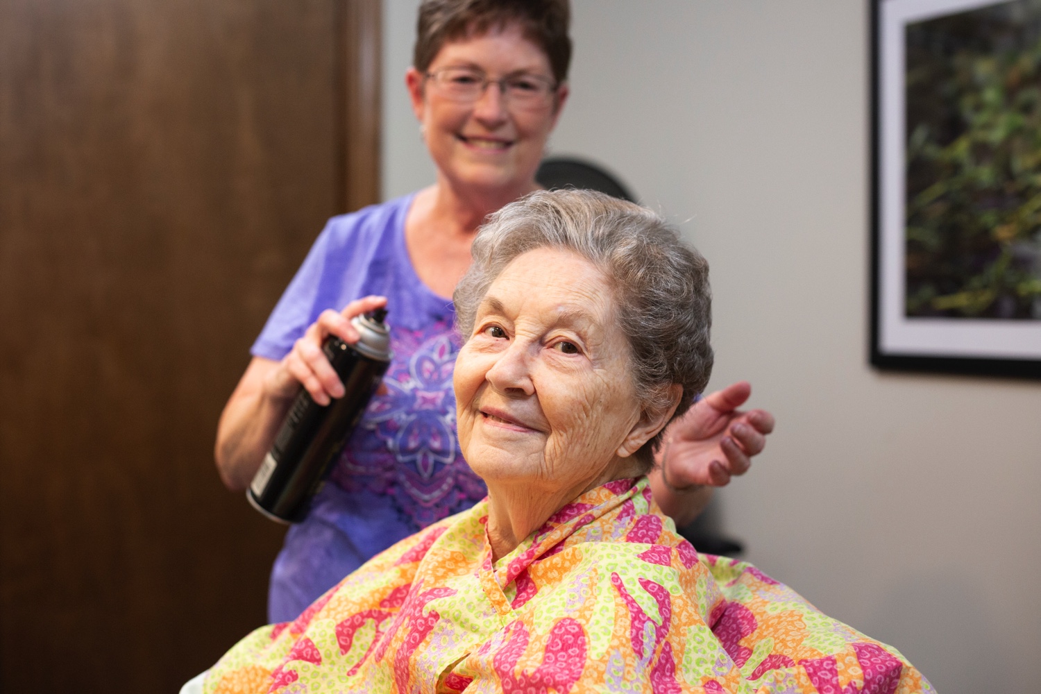
[[[871,363],[1041,378],[1041,0],[871,16]]]

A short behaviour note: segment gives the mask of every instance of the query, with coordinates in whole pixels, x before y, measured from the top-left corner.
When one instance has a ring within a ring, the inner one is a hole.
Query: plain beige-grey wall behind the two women
[[[432,180],[387,0],[384,186]],[[944,694],[1035,692],[1041,384],[867,365],[867,10],[575,0],[558,154],[621,174],[712,263],[713,386],[779,420],[721,493],[747,558]]]

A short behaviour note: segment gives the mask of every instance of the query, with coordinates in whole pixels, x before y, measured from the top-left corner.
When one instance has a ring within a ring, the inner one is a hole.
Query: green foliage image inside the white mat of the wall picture
[[[1041,0],[906,37],[907,315],[1041,319]]]

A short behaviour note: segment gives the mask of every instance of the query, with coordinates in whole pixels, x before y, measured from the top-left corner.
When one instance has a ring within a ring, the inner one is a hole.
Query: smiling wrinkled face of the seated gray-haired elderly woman
[[[455,367],[459,443],[489,484],[564,500],[639,474],[643,422],[612,287],[577,254],[537,249],[491,283]]]

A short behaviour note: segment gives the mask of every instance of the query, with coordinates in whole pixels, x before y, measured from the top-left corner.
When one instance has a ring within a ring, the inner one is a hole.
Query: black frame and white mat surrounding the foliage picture
[[[909,316],[905,284],[908,280],[904,172],[908,135],[906,112],[902,110],[906,108],[903,62],[906,26],[912,21],[1010,4],[1013,3],[994,0],[871,0],[869,3],[869,359],[879,369],[1041,379],[1041,319]]]

